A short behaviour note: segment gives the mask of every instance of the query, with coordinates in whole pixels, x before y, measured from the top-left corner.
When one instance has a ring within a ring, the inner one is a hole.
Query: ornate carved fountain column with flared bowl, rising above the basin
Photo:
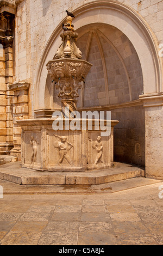
[[[77,110],[78,90],[82,88],[80,82],[85,80],[92,64],[82,59],[82,52],[76,46],[78,33],[74,32],[72,17],[67,17],[67,23],[63,25],[64,32],[60,34],[62,45],[55,54],[53,60],[47,64],[49,76],[53,78],[61,98],[62,113],[64,117],[73,117],[71,113]],[[66,109],[69,108],[69,113]]]

